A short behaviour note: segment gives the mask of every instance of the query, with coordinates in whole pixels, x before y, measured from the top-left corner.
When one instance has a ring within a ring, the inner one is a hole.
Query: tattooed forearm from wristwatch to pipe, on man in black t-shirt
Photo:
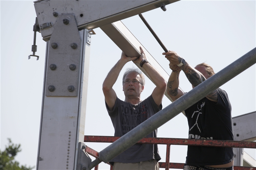
[[[182,66],[182,70],[184,71],[188,81],[194,86],[196,87],[197,85],[199,85],[200,83],[202,83],[203,81],[205,81],[206,79],[203,77],[202,74],[199,74],[194,68],[191,68],[190,65],[188,65],[187,63],[185,63]]]

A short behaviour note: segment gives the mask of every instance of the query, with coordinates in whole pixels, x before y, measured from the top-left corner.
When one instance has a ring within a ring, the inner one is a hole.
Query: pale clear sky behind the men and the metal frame
[[[40,58],[28,60],[32,54],[35,10],[33,1],[1,0],[1,150],[7,138],[22,145],[17,160],[22,165],[35,166],[37,161],[39,126],[42,105],[43,74],[45,65],[45,41],[37,33],[37,52]],[[163,44],[176,51],[191,66],[206,62],[218,72],[236,61],[256,46],[256,1],[179,1],[143,13]],[[140,17],[122,20],[126,27],[141,42],[148,52],[169,74],[169,62],[163,50],[147,30]],[[113,136],[114,128],[105,109],[102,83],[121,50],[100,28],[94,29],[91,39],[89,84],[87,96],[85,135]],[[114,90],[124,100],[122,74]],[[232,105],[232,117],[256,110],[255,65],[248,68],[223,86]],[[142,99],[151,95],[154,84],[146,79]],[[184,73],[180,75],[180,87],[192,89]],[[171,102],[164,97],[163,108]],[[255,120],[256,122],[256,120]],[[158,137],[187,138],[187,119],[183,114],[174,117],[158,129]],[[101,151],[108,143],[86,143]],[[171,146],[170,162],[184,163],[186,146]],[[165,161],[166,146],[159,146]],[[245,149],[255,159],[255,149]],[[100,169],[109,169],[100,164]]]

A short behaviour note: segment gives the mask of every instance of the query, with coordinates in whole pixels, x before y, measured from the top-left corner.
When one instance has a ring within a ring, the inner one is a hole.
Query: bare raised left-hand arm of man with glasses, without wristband
[[[105,96],[105,102],[108,105],[110,111],[113,110],[115,101],[116,101],[116,92],[113,89],[113,85],[115,84],[118,75],[124,65],[132,60],[136,60],[137,57],[127,57],[124,52],[122,52],[120,60],[114,65],[114,67],[110,70],[108,75],[106,76],[103,85],[102,90],[103,94]]]

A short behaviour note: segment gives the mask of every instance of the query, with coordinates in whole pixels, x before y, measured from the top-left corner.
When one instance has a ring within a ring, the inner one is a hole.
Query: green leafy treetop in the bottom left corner
[[[19,166],[14,157],[21,151],[20,144],[13,144],[9,139],[9,146],[5,146],[5,150],[0,150],[0,170],[32,170],[34,167]]]

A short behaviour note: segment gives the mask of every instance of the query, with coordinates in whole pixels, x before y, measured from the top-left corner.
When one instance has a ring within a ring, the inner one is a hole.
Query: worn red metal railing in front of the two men
[[[119,139],[114,136],[84,136],[84,142],[103,142],[113,143]],[[166,162],[159,162],[160,168],[166,170],[171,169],[183,169],[184,163],[170,163],[170,146],[171,145],[189,145],[189,146],[212,146],[212,147],[232,147],[232,148],[254,148],[256,149],[256,142],[251,141],[230,141],[230,140],[210,140],[210,139],[180,139],[180,138],[143,138],[137,143],[143,144],[159,144],[167,145],[166,147]],[[88,146],[86,146],[86,152],[94,156],[99,157],[99,153]],[[168,164],[169,163],[169,164]],[[109,164],[109,163],[108,163]],[[110,165],[110,164],[109,164]],[[113,166],[110,165],[110,170]],[[98,170],[98,165],[95,167]],[[241,167],[234,166],[234,170],[256,170],[255,167]]]

